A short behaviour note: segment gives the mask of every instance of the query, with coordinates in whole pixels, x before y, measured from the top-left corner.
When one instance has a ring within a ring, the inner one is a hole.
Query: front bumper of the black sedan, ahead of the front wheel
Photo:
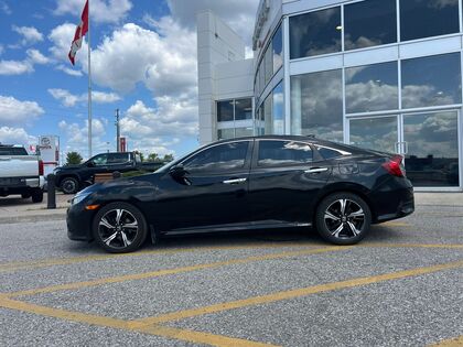
[[[76,241],[91,241],[91,220],[95,212],[86,210],[84,204],[76,204],[67,209],[67,237]]]

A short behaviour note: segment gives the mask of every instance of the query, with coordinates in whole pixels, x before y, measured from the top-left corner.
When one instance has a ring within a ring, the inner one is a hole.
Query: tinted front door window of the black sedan
[[[183,162],[190,171],[228,171],[245,166],[249,141],[225,143],[201,151]]]

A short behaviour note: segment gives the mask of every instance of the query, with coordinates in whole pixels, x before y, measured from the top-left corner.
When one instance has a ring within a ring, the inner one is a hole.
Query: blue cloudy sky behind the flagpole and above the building
[[[211,9],[250,45],[258,0],[90,0],[93,154],[179,156],[198,147],[195,13]],[[87,43],[68,58],[85,0],[0,0],[0,142],[58,135],[88,158]]]

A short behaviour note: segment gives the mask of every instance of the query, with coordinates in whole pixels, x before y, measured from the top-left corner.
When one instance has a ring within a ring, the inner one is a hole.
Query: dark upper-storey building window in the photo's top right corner
[[[459,0],[401,0],[401,41],[457,33]]]

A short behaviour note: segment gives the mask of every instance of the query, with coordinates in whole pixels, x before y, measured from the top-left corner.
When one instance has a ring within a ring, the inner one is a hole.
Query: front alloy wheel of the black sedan
[[[139,223],[127,209],[108,210],[98,223],[98,234],[106,246],[114,249],[129,247],[137,238]]]

